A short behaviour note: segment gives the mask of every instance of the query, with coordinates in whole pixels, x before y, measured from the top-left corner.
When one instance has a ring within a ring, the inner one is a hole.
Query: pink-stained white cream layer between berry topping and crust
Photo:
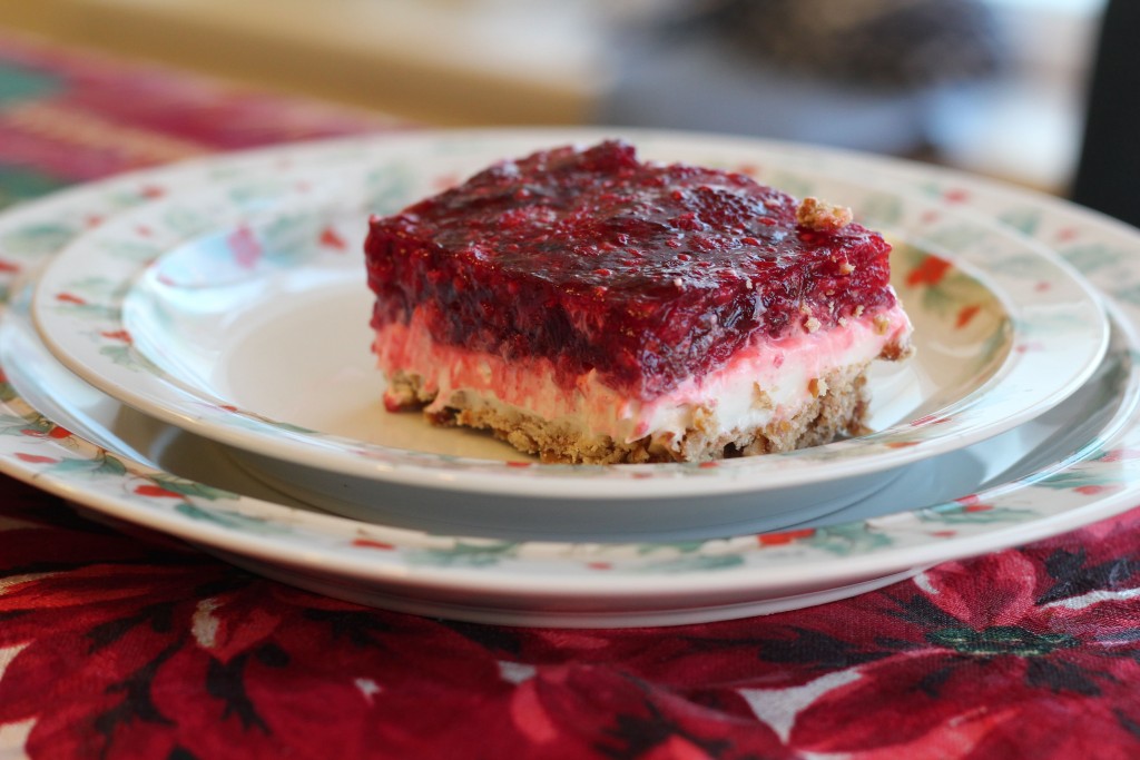
[[[418,312],[408,325],[380,329],[374,351],[382,371],[418,375],[422,390],[437,394],[427,411],[443,409],[462,392],[469,404],[478,399],[480,406],[537,415],[589,438],[633,442],[646,435],[681,438],[698,425],[707,432],[728,431],[790,417],[811,398],[828,392],[820,378],[829,371],[866,365],[887,346],[905,348],[910,333],[910,320],[895,305],[831,329],[758,340],[722,367],[650,401],[619,393],[595,371],[578,376],[567,389],[555,381],[547,359],[507,361],[437,344]]]

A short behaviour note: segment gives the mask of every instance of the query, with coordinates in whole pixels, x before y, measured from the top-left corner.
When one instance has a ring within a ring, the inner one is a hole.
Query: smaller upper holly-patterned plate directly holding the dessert
[[[711,466],[569,467],[384,412],[357,253],[367,211],[497,157],[581,138],[435,134],[361,144],[335,161],[298,149],[287,165],[180,193],[84,235],[41,279],[36,322],[96,386],[245,450],[251,472],[325,508],[547,539],[709,538],[823,514],[907,463],[1041,414],[1104,352],[1096,295],[1004,228],[842,171],[788,165],[769,146],[657,134],[638,140],[650,157],[779,171],[781,186],[849,203],[894,238],[919,357],[874,370],[878,432]]]

